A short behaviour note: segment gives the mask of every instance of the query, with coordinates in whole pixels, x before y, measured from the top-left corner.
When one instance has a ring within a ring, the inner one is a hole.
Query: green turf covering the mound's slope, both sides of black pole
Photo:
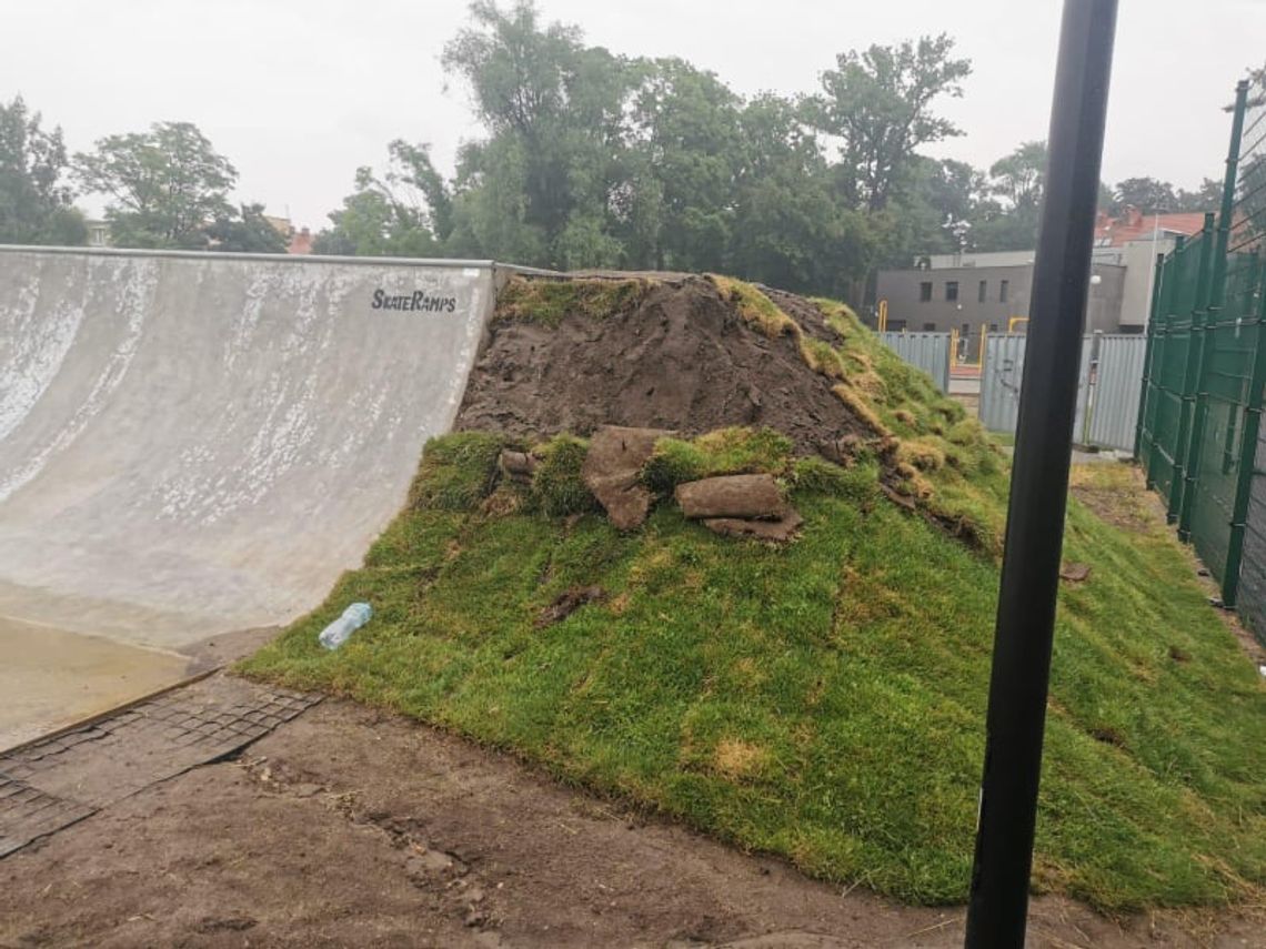
[[[880,410],[891,418],[910,404],[895,399],[899,387],[919,385],[886,385],[893,401]],[[963,469],[990,457],[961,415],[915,407],[913,423],[894,421],[942,452],[962,449]],[[752,449],[760,439],[718,442],[704,454],[779,457]],[[485,458],[472,444],[462,457]],[[446,448],[432,443],[420,482],[453,480],[451,464],[433,463]],[[567,483],[576,452],[555,450]],[[848,471],[781,463],[805,518],[803,537],[781,548],[719,538],[670,504],[622,534],[595,514],[492,514],[487,500],[452,510],[448,488],[419,483],[415,496],[434,501],[405,510],[362,569],[242,668],[513,749],[827,879],[960,902],[995,559],[882,499],[874,458]],[[1096,468],[1087,477],[1129,475]],[[471,469],[466,483],[482,461]],[[948,493],[947,473],[966,482],[961,471],[947,462],[915,475]],[[1001,466],[975,469],[968,487],[963,497],[995,516]],[[1256,671],[1163,526],[1125,533],[1072,504],[1066,557],[1091,576],[1060,602],[1038,887],[1110,910],[1260,895],[1266,688]],[[575,586],[608,597],[538,628]],[[370,601],[373,620],[341,650],[322,650],[318,631],[353,600]]]

